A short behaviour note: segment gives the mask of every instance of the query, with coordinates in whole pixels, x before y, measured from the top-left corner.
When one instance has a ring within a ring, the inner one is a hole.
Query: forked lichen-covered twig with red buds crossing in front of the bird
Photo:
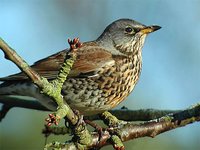
[[[61,95],[62,85],[66,80],[71,67],[76,60],[76,50],[81,46],[78,38],[74,40],[68,40],[70,44],[70,52],[66,56],[66,59],[59,70],[59,74],[56,79],[48,81],[46,78],[41,77],[37,72],[32,70],[31,67],[15,52],[14,49],[8,46],[8,44],[0,38],[0,49],[5,54],[5,58],[14,62],[21,71],[23,71],[32,82],[34,82],[41,93],[50,97],[58,105],[57,112],[49,114],[49,118],[46,120],[47,125],[57,125],[61,118],[66,117],[74,130],[73,142],[77,147],[84,147],[91,143],[91,135],[85,125],[78,124],[79,117],[72,111],[68,104],[64,103],[63,96]],[[3,115],[6,113],[3,113]]]

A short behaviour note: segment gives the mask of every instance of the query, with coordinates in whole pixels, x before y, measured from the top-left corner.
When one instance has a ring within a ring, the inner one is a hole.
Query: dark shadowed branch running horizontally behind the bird
[[[41,105],[36,100],[25,100],[21,97],[11,97],[11,96],[1,96],[0,103],[12,107],[20,107],[27,109],[34,109],[40,111],[50,111],[43,105]],[[158,110],[158,109],[139,109],[139,110],[130,110],[130,109],[115,109],[110,110],[114,116],[120,120],[125,121],[149,121],[167,115],[169,113],[176,113],[181,110]],[[0,111],[1,114],[1,111]],[[1,115],[0,115],[1,117]],[[99,120],[99,115],[86,116],[84,117],[88,120]],[[3,118],[0,118],[0,120]]]

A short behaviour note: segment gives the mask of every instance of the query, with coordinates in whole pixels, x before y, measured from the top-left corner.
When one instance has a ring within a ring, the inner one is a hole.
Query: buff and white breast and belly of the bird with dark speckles
[[[98,75],[69,78],[63,85],[65,101],[84,115],[111,109],[133,90],[141,71],[141,58],[116,58],[114,66],[104,67]]]

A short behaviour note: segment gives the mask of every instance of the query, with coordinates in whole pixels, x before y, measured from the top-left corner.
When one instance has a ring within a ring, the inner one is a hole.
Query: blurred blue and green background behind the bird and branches
[[[184,109],[200,100],[199,8],[199,0],[0,0],[0,37],[32,64],[68,47],[69,37],[94,40],[119,18],[160,25],[162,29],[145,42],[139,83],[118,108]],[[0,52],[0,76],[18,71]],[[46,116],[47,112],[12,109],[0,123],[0,149],[43,149]],[[125,146],[128,150],[199,150],[199,131],[200,124],[194,123]],[[53,140],[67,138],[48,138]]]

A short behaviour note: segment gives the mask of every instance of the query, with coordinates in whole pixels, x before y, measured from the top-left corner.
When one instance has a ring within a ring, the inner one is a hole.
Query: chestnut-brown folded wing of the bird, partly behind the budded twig
[[[84,43],[77,52],[77,60],[68,77],[94,76],[101,67],[110,66],[115,63],[111,53],[93,43]],[[63,64],[67,53],[67,50],[63,50],[35,62],[31,67],[41,76],[46,77],[47,79],[54,79],[59,72],[60,66]],[[0,78],[1,81],[26,79],[28,78],[24,73]]]

